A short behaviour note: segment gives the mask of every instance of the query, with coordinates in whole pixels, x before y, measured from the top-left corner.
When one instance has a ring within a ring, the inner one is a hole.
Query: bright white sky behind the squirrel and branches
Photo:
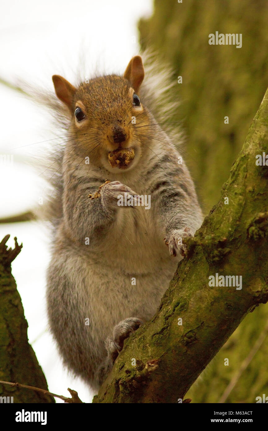
[[[152,0],[2,2],[0,78],[12,82],[20,78],[52,90],[53,74],[74,81],[81,58],[86,76],[96,65],[106,73],[122,73],[130,58],[139,52],[136,23],[151,12]],[[31,154],[42,148],[35,142],[54,137],[48,124],[43,111],[0,84],[0,156],[13,155],[12,165],[0,159],[0,217],[17,214],[37,203],[43,183],[34,173]],[[17,147],[22,148],[14,150]],[[33,348],[49,390],[69,396],[67,388],[71,387],[84,402],[90,402],[89,389],[62,369],[50,335],[40,336],[46,329],[46,232],[37,223],[0,225],[0,240],[8,233],[24,244],[12,264],[12,273],[28,320],[29,340],[38,337]]]

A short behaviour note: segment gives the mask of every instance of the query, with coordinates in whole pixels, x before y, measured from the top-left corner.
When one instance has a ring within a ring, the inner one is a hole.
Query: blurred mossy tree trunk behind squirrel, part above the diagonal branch
[[[267,88],[267,20],[263,0],[154,0],[153,15],[139,22],[142,49],[170,63],[175,82],[182,76],[173,90],[182,104],[170,121],[183,121],[182,156],[205,214],[219,199]],[[216,30],[242,34],[242,47],[209,45]]]

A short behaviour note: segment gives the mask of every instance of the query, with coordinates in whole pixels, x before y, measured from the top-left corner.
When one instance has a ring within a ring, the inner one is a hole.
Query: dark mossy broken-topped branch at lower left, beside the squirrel
[[[0,380],[22,383],[47,390],[46,378],[34,350],[28,344],[28,323],[22,301],[11,274],[11,262],[20,253],[7,249],[9,235],[0,242]],[[32,390],[0,384],[0,397],[13,397],[14,403],[54,403],[53,397]],[[9,398],[10,400],[10,398]]]

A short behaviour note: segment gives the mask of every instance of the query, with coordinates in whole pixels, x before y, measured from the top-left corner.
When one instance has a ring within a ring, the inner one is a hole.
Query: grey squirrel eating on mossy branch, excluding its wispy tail
[[[182,238],[203,220],[190,173],[146,103],[145,75],[134,56],[123,76],[77,87],[52,77],[68,144],[50,209],[47,313],[64,364],[94,391],[124,340],[157,312],[183,258]],[[120,196],[130,205],[119,206]],[[142,196],[150,209],[139,205]]]

